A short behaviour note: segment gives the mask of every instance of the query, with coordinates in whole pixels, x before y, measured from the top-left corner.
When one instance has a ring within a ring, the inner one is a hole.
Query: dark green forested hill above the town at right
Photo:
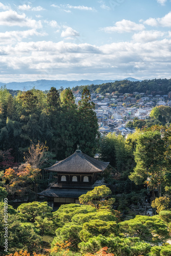
[[[73,92],[79,91],[82,93],[83,86],[72,88]],[[143,81],[115,81],[102,84],[91,84],[89,85],[89,90],[91,93],[99,93],[104,95],[105,93],[129,93],[133,92],[145,93],[145,94],[168,94],[171,92],[171,79],[153,79],[153,80],[143,80]]]

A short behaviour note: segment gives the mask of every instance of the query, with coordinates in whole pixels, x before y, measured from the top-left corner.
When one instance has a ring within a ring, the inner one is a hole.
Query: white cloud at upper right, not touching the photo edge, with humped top
[[[131,20],[122,19],[120,22],[116,22],[113,27],[102,28],[103,31],[112,33],[112,32],[134,32],[137,30],[143,30],[145,27],[143,24],[137,24],[131,22]]]

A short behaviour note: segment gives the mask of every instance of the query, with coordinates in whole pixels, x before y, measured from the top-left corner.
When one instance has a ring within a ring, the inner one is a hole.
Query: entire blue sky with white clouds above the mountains
[[[171,0],[0,2],[0,82],[170,72]]]

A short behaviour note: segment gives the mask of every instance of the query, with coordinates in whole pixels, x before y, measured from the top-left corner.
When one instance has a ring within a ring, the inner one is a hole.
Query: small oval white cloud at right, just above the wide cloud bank
[[[161,38],[164,35],[161,31],[141,31],[132,36],[133,40],[139,42],[151,42]]]

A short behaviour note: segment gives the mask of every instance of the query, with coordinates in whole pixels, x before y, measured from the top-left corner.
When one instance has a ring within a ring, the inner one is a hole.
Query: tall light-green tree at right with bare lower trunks
[[[137,165],[129,178],[136,184],[145,183],[149,186],[153,191],[154,199],[155,187],[159,188],[161,196],[161,185],[166,173],[164,153],[164,140],[160,132],[149,131],[139,135],[134,153]],[[146,181],[147,178],[149,179]]]

